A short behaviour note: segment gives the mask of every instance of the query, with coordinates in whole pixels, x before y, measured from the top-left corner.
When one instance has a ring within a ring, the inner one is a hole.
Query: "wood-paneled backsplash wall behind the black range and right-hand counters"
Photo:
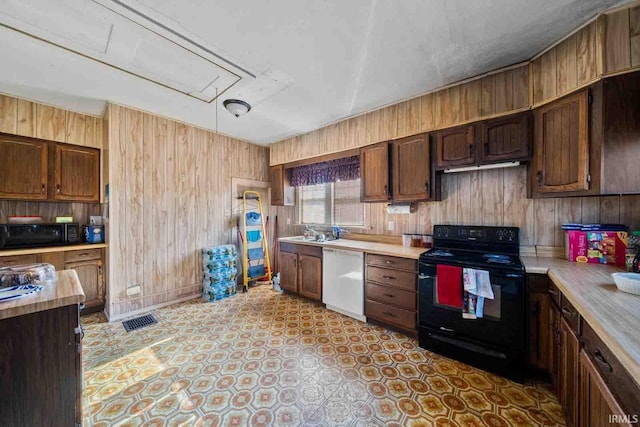
[[[390,215],[386,203],[365,204],[370,228],[354,233],[400,236],[431,233],[435,224],[504,225],[520,227],[527,253],[553,255],[562,251],[565,222],[622,223],[640,230],[640,196],[527,199],[526,166],[445,174],[441,202],[417,204],[409,215]],[[302,233],[295,225],[295,207],[279,207],[280,236]],[[287,221],[294,225],[287,225]],[[389,221],[395,224],[388,231]]]

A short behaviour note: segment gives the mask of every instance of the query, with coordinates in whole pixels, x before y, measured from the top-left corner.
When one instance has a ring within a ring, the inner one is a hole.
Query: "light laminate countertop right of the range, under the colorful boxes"
[[[640,295],[619,291],[621,267],[522,257],[527,273],[548,274],[589,326],[640,384]]]

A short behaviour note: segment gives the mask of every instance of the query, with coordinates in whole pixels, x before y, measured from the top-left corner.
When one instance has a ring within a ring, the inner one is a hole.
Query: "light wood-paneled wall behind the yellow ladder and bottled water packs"
[[[231,241],[231,177],[269,181],[268,149],[110,105],[110,318],[199,295],[200,249]],[[142,294],[132,297],[133,284]]]

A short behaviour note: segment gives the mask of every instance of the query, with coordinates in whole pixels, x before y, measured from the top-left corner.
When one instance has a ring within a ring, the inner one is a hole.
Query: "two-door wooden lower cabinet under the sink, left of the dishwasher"
[[[280,287],[314,301],[322,301],[322,248],[280,244]]]

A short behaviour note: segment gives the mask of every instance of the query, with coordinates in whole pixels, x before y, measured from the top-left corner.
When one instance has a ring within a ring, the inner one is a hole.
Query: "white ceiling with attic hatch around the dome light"
[[[269,144],[529,59],[625,2],[0,0],[0,92]]]

